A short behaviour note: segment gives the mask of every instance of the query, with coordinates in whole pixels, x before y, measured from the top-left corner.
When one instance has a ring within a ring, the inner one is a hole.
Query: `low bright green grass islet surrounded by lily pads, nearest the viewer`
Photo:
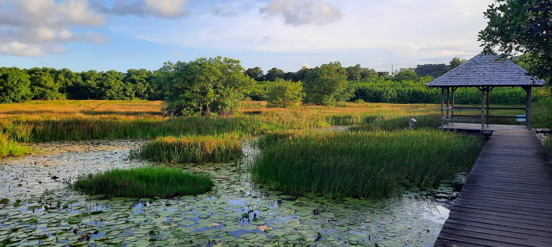
[[[72,185],[89,195],[110,197],[173,197],[198,195],[211,190],[209,175],[184,173],[179,168],[145,167],[113,169],[79,178]]]

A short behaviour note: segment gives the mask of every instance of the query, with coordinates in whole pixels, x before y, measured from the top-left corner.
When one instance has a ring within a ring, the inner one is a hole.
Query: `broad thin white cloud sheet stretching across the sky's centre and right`
[[[239,5],[244,1],[233,2]],[[247,2],[250,7],[235,16],[204,13],[179,20],[165,29],[125,26],[116,30],[189,48],[270,52],[288,57],[315,53],[316,59],[326,60],[323,62],[343,57],[353,60],[357,56],[359,62],[367,64],[386,67],[389,63],[391,67],[394,63],[395,67],[406,67],[421,61],[444,62],[451,56],[470,57],[479,53],[477,33],[486,26],[482,12],[493,0],[313,1],[314,6],[324,3],[341,12],[341,18],[323,25],[316,25],[322,19],[312,13],[325,12],[296,8],[305,2],[310,1]],[[311,15],[314,17],[305,18]],[[377,61],[379,57],[385,57],[386,61]]]

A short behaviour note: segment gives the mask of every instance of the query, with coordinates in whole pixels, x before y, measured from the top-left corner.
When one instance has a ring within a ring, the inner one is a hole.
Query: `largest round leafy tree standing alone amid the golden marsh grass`
[[[190,62],[166,62],[158,76],[165,88],[163,112],[171,115],[229,116],[240,111],[240,100],[254,80],[239,60],[200,57]]]

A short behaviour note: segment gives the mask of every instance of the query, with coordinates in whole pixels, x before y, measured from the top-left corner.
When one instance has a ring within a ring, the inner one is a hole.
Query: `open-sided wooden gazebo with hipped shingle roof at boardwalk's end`
[[[432,82],[426,84],[428,87],[441,89],[441,126],[442,129],[466,130],[466,131],[494,131],[531,129],[531,89],[542,87],[544,81],[536,77],[527,76],[527,71],[512,61],[501,59],[494,54],[484,54],[471,58],[462,65],[443,74]],[[458,88],[474,87],[481,91],[481,107],[454,106],[454,92]],[[495,87],[521,87],[527,94],[527,105],[525,108],[499,108],[489,107],[489,93]],[[446,92],[446,93],[445,93]],[[525,110],[526,116],[489,116],[489,110]],[[477,115],[455,114],[455,111],[481,112]],[[469,117],[468,119],[463,117]],[[490,125],[489,118],[521,118],[525,119],[526,126],[521,125]],[[472,122],[472,123],[466,123]],[[481,122],[481,123],[473,123]]]

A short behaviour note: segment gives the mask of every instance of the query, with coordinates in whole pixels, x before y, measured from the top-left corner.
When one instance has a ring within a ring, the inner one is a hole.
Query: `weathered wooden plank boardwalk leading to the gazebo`
[[[532,131],[492,134],[435,246],[552,246],[552,162]]]

